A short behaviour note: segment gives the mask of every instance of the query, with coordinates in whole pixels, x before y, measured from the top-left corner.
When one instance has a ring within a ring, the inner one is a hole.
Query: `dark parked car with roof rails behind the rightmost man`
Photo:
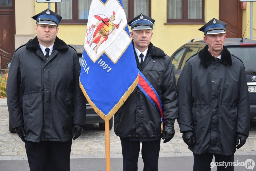
[[[247,75],[251,117],[256,117],[256,41],[248,38],[249,37],[244,38],[242,42],[240,42],[241,38],[226,38],[224,45],[231,54],[239,57],[243,61]],[[196,39],[202,40],[194,42]],[[178,81],[186,60],[190,56],[198,53],[205,46],[206,43],[203,38],[194,38],[174,52],[171,59],[176,82]]]

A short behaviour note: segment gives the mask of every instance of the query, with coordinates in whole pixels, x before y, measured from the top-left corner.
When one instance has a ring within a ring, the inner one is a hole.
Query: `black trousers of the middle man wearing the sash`
[[[140,141],[121,139],[123,154],[123,171],[137,171],[140,153]],[[157,171],[161,139],[142,142],[141,155],[144,162],[143,171]]]

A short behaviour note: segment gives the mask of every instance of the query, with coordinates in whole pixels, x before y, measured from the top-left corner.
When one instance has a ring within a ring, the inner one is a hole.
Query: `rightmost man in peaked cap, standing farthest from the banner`
[[[236,148],[249,135],[250,103],[244,65],[223,46],[227,24],[213,18],[199,28],[207,45],[187,59],[178,79],[177,119],[194,153],[194,171],[233,171]],[[240,143],[239,143],[240,141]],[[221,165],[220,165],[221,163]],[[216,165],[215,165],[216,166]]]

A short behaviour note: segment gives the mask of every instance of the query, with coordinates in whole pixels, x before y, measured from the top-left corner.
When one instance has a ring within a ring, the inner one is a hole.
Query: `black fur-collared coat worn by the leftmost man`
[[[76,50],[58,37],[48,60],[37,36],[16,49],[7,79],[7,105],[12,127],[24,125],[25,140],[65,142],[72,138],[72,123],[85,125],[80,69]]]

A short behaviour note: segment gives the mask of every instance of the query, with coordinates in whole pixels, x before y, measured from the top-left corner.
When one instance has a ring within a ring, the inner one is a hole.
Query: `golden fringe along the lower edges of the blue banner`
[[[133,92],[133,90],[136,88],[138,82],[139,82],[139,76],[136,77],[135,81],[132,83],[132,85],[128,88],[128,90],[125,92],[125,94],[121,97],[121,99],[119,100],[119,102],[110,110],[110,112],[108,113],[108,115],[104,115],[103,112],[101,112],[101,110],[95,106],[95,104],[92,102],[92,100],[90,99],[90,97],[87,95],[86,90],[84,89],[81,81],[80,81],[80,76],[79,76],[79,82],[80,82],[80,88],[84,94],[84,96],[86,97],[88,103],[91,105],[91,107],[94,109],[94,111],[102,118],[104,119],[106,122],[109,122],[109,120],[112,118],[112,116],[118,111],[118,109],[124,104],[125,100],[131,95],[131,93]]]

